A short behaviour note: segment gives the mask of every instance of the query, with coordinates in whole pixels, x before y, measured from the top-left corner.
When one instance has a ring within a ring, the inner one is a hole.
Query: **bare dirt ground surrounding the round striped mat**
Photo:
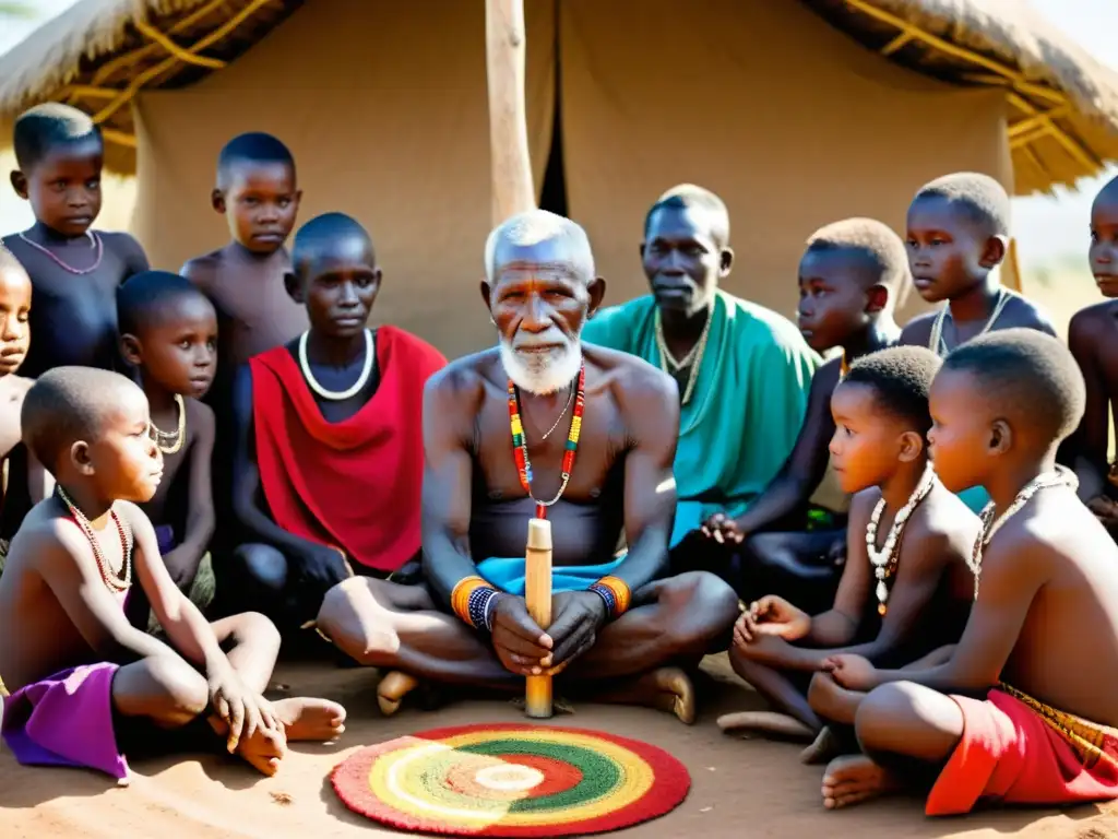
[[[727,710],[759,708],[759,698],[733,680],[724,657],[708,659],[710,681],[699,720],[688,727],[642,708],[579,706],[557,724],[599,728],[644,739],[676,755],[692,788],[663,819],[625,837],[771,837],[803,839],[823,831],[859,839],[966,836],[1118,839],[1118,805],[1067,811],[988,812],[930,820],[917,799],[890,800],[845,812],[827,812],[819,799],[822,769],[800,765],[798,746],[722,735],[714,718]],[[381,837],[394,831],[350,813],[328,780],[330,770],[357,748],[411,732],[479,722],[520,722],[521,711],[500,700],[466,700],[438,711],[405,707],[383,718],[376,706],[375,671],[326,663],[288,663],[277,670],[277,695],[311,695],[347,706],[349,720],[333,747],[296,744],[278,775],[264,779],[237,760],[188,755],[133,762],[131,786],[117,788],[93,772],[20,767],[0,753],[0,837],[153,837],[217,839],[285,836]]]

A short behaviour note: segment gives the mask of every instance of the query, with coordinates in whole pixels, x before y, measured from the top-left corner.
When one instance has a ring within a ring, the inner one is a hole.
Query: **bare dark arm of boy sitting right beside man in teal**
[[[761,497],[738,519],[738,530],[745,535],[764,530],[804,505],[819,486],[827,471],[827,444],[834,434],[831,418],[831,393],[834,390],[839,361],[831,361],[812,378],[807,397],[807,415],[796,437],[796,445],[780,472]]]

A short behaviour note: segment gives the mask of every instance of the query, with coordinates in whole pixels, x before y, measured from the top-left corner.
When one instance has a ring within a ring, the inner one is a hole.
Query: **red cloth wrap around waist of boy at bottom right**
[[[951,699],[963,738],[928,795],[928,816],[998,804],[1061,805],[1118,798],[1118,732],[1048,708],[1012,689]]]

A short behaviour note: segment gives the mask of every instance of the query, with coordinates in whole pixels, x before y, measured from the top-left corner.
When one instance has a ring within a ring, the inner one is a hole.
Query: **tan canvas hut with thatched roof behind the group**
[[[680,181],[730,207],[731,291],[785,313],[804,238],[896,227],[916,188],[975,169],[1016,194],[1118,158],[1118,77],[1025,0],[527,0],[529,148],[542,206],[588,229],[609,300],[644,289],[650,202]],[[299,161],[302,217],[378,243],[376,319],[456,355],[492,338],[485,9],[477,0],[80,0],[0,58],[0,119],[95,116],[135,172],[155,265],[226,239],[214,162],[241,131]],[[3,128],[3,135],[10,134]]]

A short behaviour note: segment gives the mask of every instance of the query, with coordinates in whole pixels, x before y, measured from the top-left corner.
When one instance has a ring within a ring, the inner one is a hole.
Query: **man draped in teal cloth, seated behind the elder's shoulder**
[[[680,501],[671,544],[692,535],[717,547],[792,452],[819,359],[785,318],[718,287],[733,251],[729,214],[713,192],[681,185],[662,195],[645,218],[641,258],[652,293],[598,312],[582,338],[675,380]],[[674,557],[673,566],[695,567]]]

